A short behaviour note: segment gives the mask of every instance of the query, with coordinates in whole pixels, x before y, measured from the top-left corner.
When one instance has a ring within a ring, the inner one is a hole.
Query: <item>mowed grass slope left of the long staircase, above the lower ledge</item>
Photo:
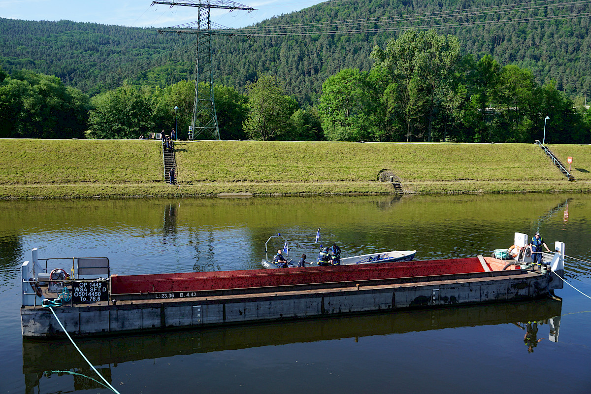
[[[0,184],[154,183],[164,179],[158,141],[0,140]]]

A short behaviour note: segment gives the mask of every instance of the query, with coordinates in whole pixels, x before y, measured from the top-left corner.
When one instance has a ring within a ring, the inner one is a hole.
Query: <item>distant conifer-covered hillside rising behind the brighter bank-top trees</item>
[[[268,72],[300,104],[316,105],[328,77],[345,68],[369,71],[372,48],[385,48],[391,38],[415,27],[454,34],[463,54],[476,60],[492,54],[501,66],[530,69],[538,84],[553,79],[558,90],[583,96],[591,92],[590,3],[325,2],[237,30],[232,38],[216,37],[214,78],[245,92],[257,74]],[[124,80],[164,87],[187,79],[195,43],[194,35],[161,35],[155,29],[0,19],[0,65],[5,70],[55,74],[89,95],[115,89]]]

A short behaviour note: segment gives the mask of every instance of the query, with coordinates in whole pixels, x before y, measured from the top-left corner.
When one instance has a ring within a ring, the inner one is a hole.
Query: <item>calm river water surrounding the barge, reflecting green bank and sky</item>
[[[583,260],[567,258],[566,279],[591,295],[589,195],[0,201],[0,393],[111,392],[68,341],[22,339],[19,266],[32,248],[107,256],[119,274],[258,269],[277,232],[293,257],[314,256],[317,227],[343,257],[417,249],[416,259],[491,255],[514,232],[540,230]],[[556,294],[562,302],[77,342],[121,394],[590,393],[591,299],[567,285]],[[535,347],[528,321],[539,322]]]

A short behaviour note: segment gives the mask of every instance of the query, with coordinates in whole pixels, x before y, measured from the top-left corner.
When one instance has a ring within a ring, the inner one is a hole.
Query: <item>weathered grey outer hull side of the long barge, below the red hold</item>
[[[488,259],[487,259],[488,260]],[[278,286],[263,292],[179,299],[135,299],[112,304],[54,308],[73,336],[96,336],[180,328],[213,327],[291,320],[359,312],[435,308],[545,297],[549,273],[521,270],[509,274],[397,284],[371,284],[313,290]],[[61,337],[64,332],[40,307],[21,308],[24,337]]]

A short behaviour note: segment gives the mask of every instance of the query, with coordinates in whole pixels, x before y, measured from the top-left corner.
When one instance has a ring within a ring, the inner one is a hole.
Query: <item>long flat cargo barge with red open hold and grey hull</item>
[[[557,243],[557,250],[561,252],[555,253],[551,269],[561,275],[564,244]],[[23,264],[23,278],[30,277],[32,266],[35,262],[31,267]],[[70,334],[92,336],[531,299],[562,288],[554,272],[504,270],[505,266],[505,261],[478,256],[288,270],[112,275],[107,301],[71,301],[53,310]],[[22,335],[63,336],[26,279],[23,291]]]

